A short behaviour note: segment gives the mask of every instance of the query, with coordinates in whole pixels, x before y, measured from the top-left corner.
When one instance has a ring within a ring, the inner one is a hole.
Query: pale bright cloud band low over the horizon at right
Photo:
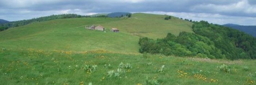
[[[172,15],[175,17],[183,19],[191,19],[193,21],[208,21],[213,24],[238,24],[238,25],[256,25],[256,18],[254,17],[238,17],[238,16],[225,16],[220,14],[211,14],[211,13],[187,13],[187,12],[162,12],[162,11],[149,11],[143,13],[152,13],[152,14],[166,14]]]

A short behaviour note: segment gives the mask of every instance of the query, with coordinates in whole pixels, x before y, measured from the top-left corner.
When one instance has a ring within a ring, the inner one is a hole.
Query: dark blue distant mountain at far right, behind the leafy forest
[[[256,26],[244,26],[244,25],[236,25],[236,24],[224,24],[223,26],[231,27],[242,32],[251,34],[253,37],[256,37]]]

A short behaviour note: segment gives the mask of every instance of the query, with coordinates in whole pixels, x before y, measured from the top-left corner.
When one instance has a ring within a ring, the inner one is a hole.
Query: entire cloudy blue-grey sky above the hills
[[[256,0],[0,0],[0,19],[8,21],[111,12],[167,14],[220,25],[256,25]]]

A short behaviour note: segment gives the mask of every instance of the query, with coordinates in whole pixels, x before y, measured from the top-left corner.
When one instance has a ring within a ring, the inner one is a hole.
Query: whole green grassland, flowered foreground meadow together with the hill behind
[[[255,85],[255,60],[211,60],[139,53],[140,37],[193,32],[166,15],[69,18],[0,32],[3,85]],[[106,32],[88,30],[101,25]],[[110,32],[118,28],[120,32]]]

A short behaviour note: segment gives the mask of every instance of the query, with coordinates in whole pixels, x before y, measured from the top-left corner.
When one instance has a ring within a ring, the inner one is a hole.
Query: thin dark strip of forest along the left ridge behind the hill
[[[61,15],[51,15],[51,16],[40,17],[40,18],[33,18],[33,19],[28,19],[28,20],[13,21],[13,22],[5,23],[5,24],[0,24],[0,31],[6,30],[11,27],[28,25],[28,24],[32,24],[32,23],[54,20],[54,19],[85,18],[85,17],[90,17],[90,16],[82,16],[82,15],[77,15],[77,14],[61,14]]]

